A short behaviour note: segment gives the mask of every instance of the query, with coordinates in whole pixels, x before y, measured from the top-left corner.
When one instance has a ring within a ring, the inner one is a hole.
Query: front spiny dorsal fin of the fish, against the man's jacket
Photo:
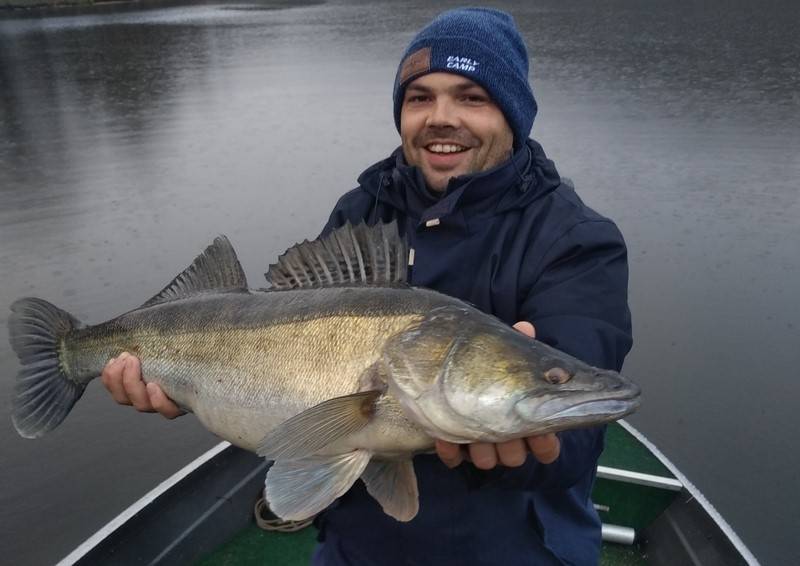
[[[324,238],[292,246],[265,274],[270,290],[334,285],[404,284],[408,244],[397,222],[352,226],[349,222]]]

